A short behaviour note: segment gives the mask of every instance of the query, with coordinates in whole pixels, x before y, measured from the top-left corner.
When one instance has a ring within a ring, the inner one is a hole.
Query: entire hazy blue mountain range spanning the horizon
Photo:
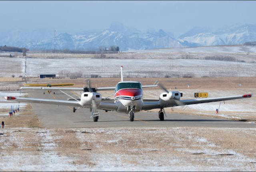
[[[161,29],[141,32],[120,23],[114,23],[102,31],[60,33],[55,38],[52,31],[44,29],[29,33],[19,30],[0,33],[0,46],[26,47],[29,50],[98,50],[102,46],[119,46],[124,51],[244,44],[253,41],[256,41],[256,24],[236,25],[214,32],[210,28],[194,27],[178,38]]]

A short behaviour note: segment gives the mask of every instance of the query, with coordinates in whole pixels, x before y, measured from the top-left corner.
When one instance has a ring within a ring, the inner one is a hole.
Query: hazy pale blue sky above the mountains
[[[256,24],[256,1],[0,1],[0,32],[102,30],[112,22],[180,36],[194,26]]]

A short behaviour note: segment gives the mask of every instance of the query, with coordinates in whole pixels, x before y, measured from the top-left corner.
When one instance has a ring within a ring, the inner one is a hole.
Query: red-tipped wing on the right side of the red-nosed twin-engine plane
[[[161,108],[184,106],[184,105],[190,105],[190,104],[220,102],[220,101],[235,100],[235,99],[250,98],[250,97],[252,97],[252,94],[245,94],[242,96],[228,96],[228,97],[219,97],[219,98],[204,98],[204,99],[190,99],[190,100],[175,100],[175,99],[170,99],[170,101],[143,100],[142,110],[161,109]]]

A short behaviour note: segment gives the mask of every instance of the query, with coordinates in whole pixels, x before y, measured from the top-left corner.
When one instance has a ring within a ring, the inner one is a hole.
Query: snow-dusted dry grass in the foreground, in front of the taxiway
[[[0,170],[255,171],[255,133],[241,128],[6,126],[0,130]]]

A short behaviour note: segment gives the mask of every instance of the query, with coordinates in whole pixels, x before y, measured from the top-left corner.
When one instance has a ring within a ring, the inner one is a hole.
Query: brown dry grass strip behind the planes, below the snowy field
[[[205,78],[124,78],[126,81],[139,81],[142,85],[152,85],[155,81],[159,80],[166,88],[172,88],[177,90],[187,89],[189,83],[190,89],[197,88],[227,88],[232,90],[239,87],[239,83],[242,84],[242,88],[254,88],[256,85],[256,77],[205,77]],[[39,79],[30,78],[31,82],[38,82],[44,84],[54,83],[75,83],[74,86],[67,87],[82,87],[85,83],[85,78],[77,79]],[[109,87],[116,86],[120,82],[120,78],[90,78],[91,86],[97,87]],[[155,89],[155,88],[147,88]]]

